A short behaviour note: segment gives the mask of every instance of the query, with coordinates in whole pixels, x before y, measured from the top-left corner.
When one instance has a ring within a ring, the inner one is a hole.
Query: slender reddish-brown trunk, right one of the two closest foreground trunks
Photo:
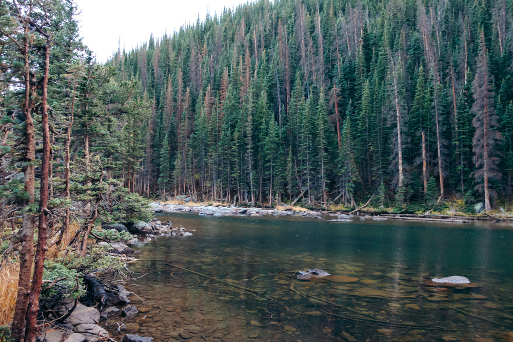
[[[41,121],[43,130],[43,155],[41,157],[41,188],[39,204],[39,226],[37,249],[35,253],[34,276],[27,311],[27,323],[25,328],[25,342],[35,342],[37,331],[37,312],[39,310],[39,295],[43,283],[43,267],[45,265],[45,253],[48,250],[47,240],[47,214],[48,214],[48,177],[50,165],[50,128],[48,124],[48,73],[50,69],[50,38],[47,38],[45,47],[45,74],[43,76],[43,95],[41,97]]]

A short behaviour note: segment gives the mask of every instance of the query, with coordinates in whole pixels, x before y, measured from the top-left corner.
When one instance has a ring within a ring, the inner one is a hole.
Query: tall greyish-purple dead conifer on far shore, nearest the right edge
[[[484,41],[484,33],[481,31],[480,51],[477,58],[477,71],[472,83],[474,104],[472,113],[476,116],[472,120],[476,133],[472,140],[474,152],[473,161],[476,170],[472,176],[476,178],[476,189],[484,192],[485,210],[491,210],[489,180],[500,178],[498,171],[499,157],[496,145],[502,140],[498,117],[494,111],[493,79],[488,70],[488,56]]]

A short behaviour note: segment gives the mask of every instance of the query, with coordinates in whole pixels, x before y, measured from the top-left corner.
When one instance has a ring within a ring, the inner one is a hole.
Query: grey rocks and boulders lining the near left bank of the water
[[[103,225],[103,229],[116,231],[128,231],[136,237],[127,242],[107,242],[103,238],[97,238],[98,246],[110,246],[108,253],[113,257],[122,257],[128,261],[136,261],[133,258],[134,250],[131,247],[141,246],[152,239],[162,236],[187,237],[193,235],[183,227],[173,227],[170,221],[162,223],[154,218],[151,222],[138,222],[132,226],[122,224]],[[194,230],[193,230],[194,231]],[[106,319],[119,317],[116,322],[117,332],[126,329],[124,319],[137,315],[140,311],[130,304],[128,298],[132,292],[123,285],[104,286],[97,278],[110,276],[107,270],[93,272],[91,277],[84,277],[88,293],[78,299],[67,298],[62,306],[57,308],[57,316],[60,321],[51,330],[47,329],[40,337],[46,342],[84,342],[84,341],[115,341],[109,332],[102,327]],[[135,295],[135,294],[134,294]],[[129,324],[129,323],[127,323]],[[121,342],[151,342],[152,337],[127,333]]]

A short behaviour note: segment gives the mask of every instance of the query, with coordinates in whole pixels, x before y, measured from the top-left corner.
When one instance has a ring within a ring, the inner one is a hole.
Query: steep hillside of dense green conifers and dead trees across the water
[[[146,195],[489,209],[511,196],[512,24],[508,0],[283,0],[152,36],[108,63],[152,103],[125,172]]]

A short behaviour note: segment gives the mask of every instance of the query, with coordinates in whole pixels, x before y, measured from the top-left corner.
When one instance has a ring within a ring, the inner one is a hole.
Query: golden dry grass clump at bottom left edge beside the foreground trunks
[[[11,324],[18,292],[19,264],[4,260],[0,265],[0,326]]]

